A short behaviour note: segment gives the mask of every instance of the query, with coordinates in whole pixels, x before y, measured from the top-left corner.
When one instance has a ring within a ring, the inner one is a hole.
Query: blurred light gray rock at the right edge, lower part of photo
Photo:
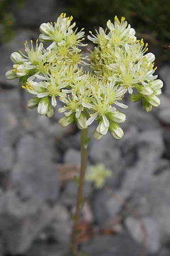
[[[135,189],[130,205],[138,216],[152,216],[159,226],[161,243],[170,237],[170,172],[163,171]],[[139,184],[139,183],[138,183]]]

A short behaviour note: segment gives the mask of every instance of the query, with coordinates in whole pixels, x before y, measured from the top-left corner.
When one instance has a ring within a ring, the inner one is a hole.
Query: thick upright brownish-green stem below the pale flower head
[[[84,184],[84,176],[86,173],[86,166],[87,166],[87,129],[81,130],[81,167],[80,167],[80,176],[78,181],[78,192],[76,197],[76,211],[74,216],[74,226],[73,226],[73,244],[72,244],[72,251],[73,256],[78,255],[78,224],[79,224],[79,217],[80,217],[80,209],[82,206],[82,194],[83,194],[83,184]]]

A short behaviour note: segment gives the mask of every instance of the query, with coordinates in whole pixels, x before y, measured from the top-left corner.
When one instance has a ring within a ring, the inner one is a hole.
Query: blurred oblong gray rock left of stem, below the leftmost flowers
[[[22,199],[55,202],[59,181],[52,151],[43,139],[25,135],[17,146],[11,183]]]

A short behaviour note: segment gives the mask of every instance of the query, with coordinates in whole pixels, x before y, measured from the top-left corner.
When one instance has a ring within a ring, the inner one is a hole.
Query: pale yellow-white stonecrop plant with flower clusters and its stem
[[[28,108],[37,108],[40,115],[52,117],[57,101],[59,119],[65,127],[75,122],[80,129],[81,168],[73,226],[73,255],[78,255],[78,220],[82,201],[82,189],[87,162],[88,126],[96,121],[94,138],[101,139],[108,131],[114,138],[124,135],[119,123],[126,116],[117,110],[127,105],[121,100],[126,93],[131,101],[142,101],[147,112],[160,104],[163,82],[154,75],[155,55],[148,52],[148,44],[138,40],[134,28],[124,17],[107,22],[107,28],[99,28],[88,35],[96,46],[90,55],[83,55],[84,31],[75,28],[73,17],[61,14],[57,22],[42,23],[35,46],[25,42],[25,53],[13,52],[13,68],[6,72],[7,79],[19,78],[19,84],[32,94]],[[74,29],[75,28],[75,29]],[[44,47],[42,42],[49,42]],[[88,64],[87,64],[88,63]],[[88,65],[88,71],[84,69]],[[134,93],[135,92],[135,93]]]

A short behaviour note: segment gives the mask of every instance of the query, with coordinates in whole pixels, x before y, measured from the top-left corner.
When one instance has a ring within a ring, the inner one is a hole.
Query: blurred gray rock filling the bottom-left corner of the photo
[[[2,244],[10,255],[23,254],[32,241],[56,217],[56,209],[39,200],[22,202],[13,191],[0,198]]]

